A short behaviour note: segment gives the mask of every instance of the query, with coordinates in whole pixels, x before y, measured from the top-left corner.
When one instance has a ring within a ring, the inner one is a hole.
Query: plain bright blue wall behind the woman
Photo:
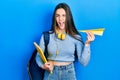
[[[119,0],[1,0],[0,80],[29,80],[27,63],[41,33],[51,27],[55,6],[66,2],[78,30],[105,28],[92,42],[90,63],[76,64],[78,80],[120,80]],[[86,34],[82,33],[84,40]]]

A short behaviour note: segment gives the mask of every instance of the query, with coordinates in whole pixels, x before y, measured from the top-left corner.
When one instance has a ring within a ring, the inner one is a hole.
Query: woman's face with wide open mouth
[[[65,31],[66,12],[63,8],[56,10],[55,18],[58,24],[58,30]]]

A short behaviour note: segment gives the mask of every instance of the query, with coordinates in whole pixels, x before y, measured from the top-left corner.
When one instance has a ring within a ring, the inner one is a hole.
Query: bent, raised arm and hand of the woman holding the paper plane
[[[87,32],[87,40],[85,45],[81,42],[78,42],[77,45],[77,55],[80,63],[86,66],[90,60],[90,42],[95,39],[94,34],[91,32]]]

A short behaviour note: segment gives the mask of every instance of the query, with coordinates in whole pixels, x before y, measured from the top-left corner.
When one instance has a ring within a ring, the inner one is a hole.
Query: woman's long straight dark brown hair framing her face
[[[80,35],[80,34],[75,27],[70,7],[66,3],[59,3],[56,6],[56,8],[54,10],[54,13],[53,13],[51,31],[55,32],[55,29],[56,29],[56,26],[57,26],[57,22],[56,22],[56,19],[55,19],[55,13],[56,13],[56,10],[60,9],[60,8],[64,9],[65,12],[66,12],[66,22],[65,22],[66,33],[71,35],[72,37],[76,38],[75,35]],[[81,37],[81,35],[79,37]],[[76,38],[76,39],[79,39],[79,38]]]

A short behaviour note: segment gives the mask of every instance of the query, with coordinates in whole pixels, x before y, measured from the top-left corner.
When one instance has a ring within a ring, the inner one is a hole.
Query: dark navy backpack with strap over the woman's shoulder
[[[43,32],[43,36],[44,36],[44,42],[45,42],[44,53],[45,53],[45,57],[47,57],[48,56],[47,45],[49,43],[49,32]],[[27,64],[28,74],[29,74],[30,80],[43,80],[44,70],[37,65],[35,61],[36,54],[37,54],[37,50],[35,49]]]

